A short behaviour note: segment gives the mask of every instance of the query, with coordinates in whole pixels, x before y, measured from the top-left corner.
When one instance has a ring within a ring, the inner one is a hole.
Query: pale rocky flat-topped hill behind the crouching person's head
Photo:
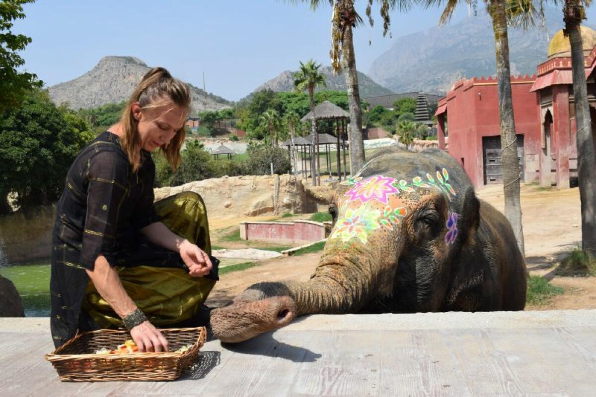
[[[74,80],[49,87],[55,103],[68,102],[73,109],[97,108],[106,103],[119,103],[131,96],[150,67],[134,56],[104,56],[95,67]],[[189,84],[191,115],[201,111],[229,108],[230,102],[206,93]]]

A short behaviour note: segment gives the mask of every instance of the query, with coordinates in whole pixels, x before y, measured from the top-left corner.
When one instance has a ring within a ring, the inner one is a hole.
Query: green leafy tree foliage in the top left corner
[[[30,89],[42,86],[35,74],[17,71],[25,64],[17,52],[23,51],[31,39],[11,31],[13,21],[25,17],[23,4],[34,1],[0,1],[0,111],[18,106]]]

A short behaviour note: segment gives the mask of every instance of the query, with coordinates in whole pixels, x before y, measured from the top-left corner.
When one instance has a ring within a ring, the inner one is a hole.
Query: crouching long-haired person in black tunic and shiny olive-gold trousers
[[[188,86],[153,68],[120,122],[69,169],[53,233],[56,346],[78,331],[124,325],[139,351],[167,351],[154,324],[205,322],[202,304],[218,276],[204,203],[194,193],[153,203],[150,152],[179,165],[189,111]]]

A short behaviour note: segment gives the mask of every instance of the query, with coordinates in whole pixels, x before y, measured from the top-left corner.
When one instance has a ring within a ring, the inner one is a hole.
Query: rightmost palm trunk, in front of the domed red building
[[[582,249],[596,255],[596,160],[580,31],[583,8],[579,7],[579,2],[576,0],[566,1],[563,14],[565,29],[571,44],[579,197],[582,211]]]

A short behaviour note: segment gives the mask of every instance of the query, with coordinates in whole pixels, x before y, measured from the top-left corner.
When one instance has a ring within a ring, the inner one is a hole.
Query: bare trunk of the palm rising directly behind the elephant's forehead
[[[362,109],[358,90],[358,71],[352,41],[352,26],[347,25],[342,40],[342,68],[346,78],[347,99],[350,108],[350,173],[353,175],[364,165],[364,138],[362,137]]]

